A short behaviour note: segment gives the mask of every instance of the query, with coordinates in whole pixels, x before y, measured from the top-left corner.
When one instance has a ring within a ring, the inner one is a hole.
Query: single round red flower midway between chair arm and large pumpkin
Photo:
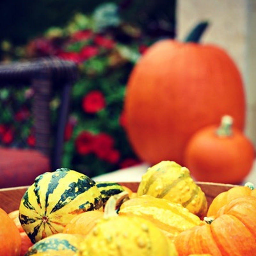
[[[102,92],[91,91],[86,94],[82,100],[82,107],[84,112],[96,113],[105,108],[106,102]]]

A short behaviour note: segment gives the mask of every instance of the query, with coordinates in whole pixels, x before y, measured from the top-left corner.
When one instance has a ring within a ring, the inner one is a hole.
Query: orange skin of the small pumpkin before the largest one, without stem
[[[233,128],[233,135],[219,137],[217,126],[196,132],[185,149],[185,166],[198,181],[239,184],[251,171],[254,146]]]

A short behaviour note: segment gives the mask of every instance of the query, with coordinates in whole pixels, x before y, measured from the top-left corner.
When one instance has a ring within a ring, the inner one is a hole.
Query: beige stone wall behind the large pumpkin
[[[247,97],[245,133],[256,145],[256,0],[177,0],[176,15],[177,39],[207,20],[201,42],[219,45],[236,62]]]

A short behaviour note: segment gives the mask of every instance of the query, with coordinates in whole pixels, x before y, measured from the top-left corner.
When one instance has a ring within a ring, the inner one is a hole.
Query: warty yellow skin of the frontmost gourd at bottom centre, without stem
[[[102,219],[81,244],[82,256],[178,256],[174,244],[152,222],[138,216]]]

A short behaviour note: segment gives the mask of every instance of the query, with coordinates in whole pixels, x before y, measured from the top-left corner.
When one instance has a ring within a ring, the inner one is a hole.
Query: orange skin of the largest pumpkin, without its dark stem
[[[242,78],[217,46],[161,40],[148,48],[130,74],[124,98],[126,132],[145,162],[184,165],[190,136],[218,124],[224,114],[244,129]]]

